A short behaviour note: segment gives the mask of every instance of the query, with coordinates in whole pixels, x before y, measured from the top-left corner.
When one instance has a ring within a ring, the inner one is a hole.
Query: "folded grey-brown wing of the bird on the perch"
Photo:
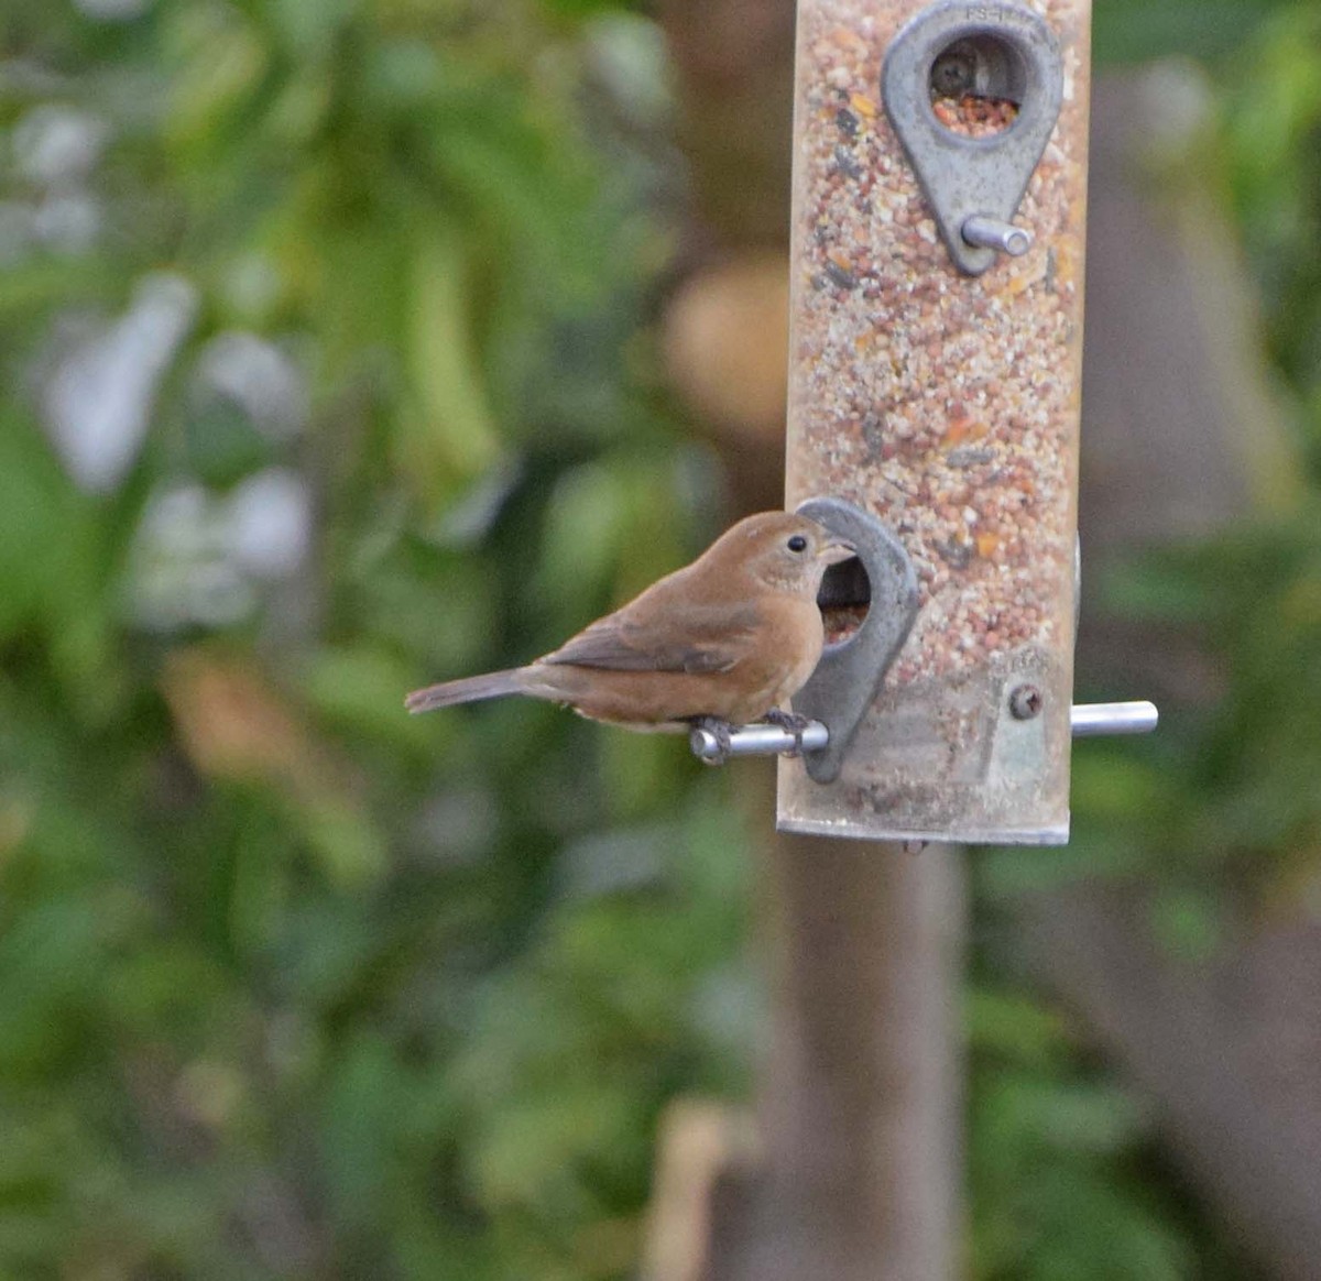
[[[638,618],[627,607],[567,640],[542,663],[621,672],[728,672],[756,646],[756,606],[688,605]]]

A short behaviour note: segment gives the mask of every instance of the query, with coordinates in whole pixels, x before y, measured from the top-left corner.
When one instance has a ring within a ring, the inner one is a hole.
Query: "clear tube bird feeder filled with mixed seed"
[[[1067,840],[1089,29],[799,0],[786,506],[878,549],[827,580],[828,633],[867,617],[794,700],[834,759],[781,762],[783,831]]]

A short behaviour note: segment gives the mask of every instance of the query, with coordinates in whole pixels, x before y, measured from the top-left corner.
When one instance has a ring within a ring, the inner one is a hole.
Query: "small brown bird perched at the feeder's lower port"
[[[785,704],[822,652],[822,574],[853,551],[806,516],[748,516],[553,654],[417,689],[404,705],[431,712],[522,693],[626,729],[742,725],[768,714],[791,725]]]

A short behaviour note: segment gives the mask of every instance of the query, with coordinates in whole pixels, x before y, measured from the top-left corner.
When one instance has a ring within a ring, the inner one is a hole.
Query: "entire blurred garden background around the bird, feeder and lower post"
[[[753,1097],[753,775],[400,700],[778,503],[791,38],[0,0],[0,1277],[629,1277]],[[1165,714],[966,864],[958,1252],[1314,1277],[1321,13],[1095,55],[1079,692]]]

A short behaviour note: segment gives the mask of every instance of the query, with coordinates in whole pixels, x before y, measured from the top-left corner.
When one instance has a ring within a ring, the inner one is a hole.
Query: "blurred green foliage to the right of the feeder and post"
[[[1192,162],[1242,230],[1263,361],[1304,483],[1288,510],[1136,557],[1103,585],[1116,613],[1153,634],[1197,638],[1206,699],[1162,717],[1149,740],[1074,753],[1073,839],[1058,857],[997,850],[978,861],[974,1263],[1005,1281],[1256,1274],[1169,1178],[1153,1119],[1112,1095],[1066,1025],[1013,1009],[997,968],[1007,905],[1082,877],[1141,885],[1151,936],[1196,963],[1223,955],[1254,922],[1314,910],[1321,872],[1321,20],[1310,4],[1172,3],[1147,7],[1145,30],[1136,16],[1125,24],[1127,49],[1107,29],[1127,8],[1098,3],[1107,55],[1215,58],[1214,119]],[[1231,48],[1231,30],[1251,38]]]

